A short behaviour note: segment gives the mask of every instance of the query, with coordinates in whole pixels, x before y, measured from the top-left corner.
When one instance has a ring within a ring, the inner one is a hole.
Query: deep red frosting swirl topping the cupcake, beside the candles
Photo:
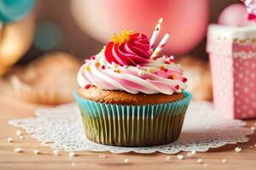
[[[108,63],[117,65],[142,65],[149,62],[152,50],[149,48],[148,37],[134,33],[129,36],[129,41],[108,42],[105,57]]]

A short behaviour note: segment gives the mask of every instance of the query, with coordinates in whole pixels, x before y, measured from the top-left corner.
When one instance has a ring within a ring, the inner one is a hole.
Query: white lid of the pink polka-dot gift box
[[[256,40],[256,26],[222,26],[211,24],[207,31],[207,53],[232,54],[233,42]]]

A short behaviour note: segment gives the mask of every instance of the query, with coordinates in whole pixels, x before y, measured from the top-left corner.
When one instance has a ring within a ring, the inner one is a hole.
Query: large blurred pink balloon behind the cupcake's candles
[[[113,32],[124,28],[151,37],[160,17],[164,18],[158,41],[166,32],[171,39],[165,47],[169,54],[185,54],[201,42],[208,23],[208,0],[97,0],[72,1],[79,26],[91,37],[108,42]]]

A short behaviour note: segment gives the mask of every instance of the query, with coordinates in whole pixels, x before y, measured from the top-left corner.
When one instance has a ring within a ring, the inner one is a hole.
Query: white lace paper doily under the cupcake
[[[253,130],[241,127],[245,122],[216,116],[212,103],[205,101],[190,103],[182,133],[176,142],[154,147],[117,147],[91,142],[84,136],[76,104],[38,109],[35,114],[36,117],[10,120],[9,124],[26,129],[27,133],[32,133],[32,137],[41,141],[44,146],[66,151],[159,151],[166,154],[191,150],[207,151],[209,148],[218,148],[224,144],[247,142],[247,134],[253,133]]]

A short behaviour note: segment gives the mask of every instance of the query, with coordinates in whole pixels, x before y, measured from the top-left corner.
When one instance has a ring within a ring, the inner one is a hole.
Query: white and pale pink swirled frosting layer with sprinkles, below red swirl
[[[174,94],[186,88],[187,79],[179,65],[166,64],[169,57],[149,59],[144,65],[108,63],[103,53],[88,60],[79,70],[81,88],[96,86],[106,90],[121,90],[131,94]]]

